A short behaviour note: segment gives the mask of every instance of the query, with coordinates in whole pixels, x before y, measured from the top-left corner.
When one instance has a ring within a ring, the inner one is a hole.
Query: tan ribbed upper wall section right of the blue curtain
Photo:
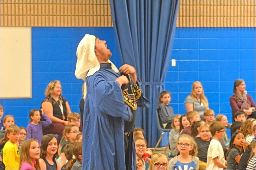
[[[181,0],[176,26],[255,27],[255,1]]]

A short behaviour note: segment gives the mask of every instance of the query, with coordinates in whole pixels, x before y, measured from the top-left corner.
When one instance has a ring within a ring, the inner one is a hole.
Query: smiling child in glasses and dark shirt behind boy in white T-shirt
[[[206,169],[207,151],[212,140],[209,124],[199,127],[199,137],[194,138],[198,147],[199,169]]]

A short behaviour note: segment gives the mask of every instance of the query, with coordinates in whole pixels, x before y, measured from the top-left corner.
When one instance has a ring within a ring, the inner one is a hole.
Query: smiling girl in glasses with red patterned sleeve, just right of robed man
[[[150,156],[152,155],[152,151],[147,149],[147,141],[143,138],[134,139],[136,153],[138,153],[142,159],[145,161],[145,167],[148,169],[149,163],[151,161]]]

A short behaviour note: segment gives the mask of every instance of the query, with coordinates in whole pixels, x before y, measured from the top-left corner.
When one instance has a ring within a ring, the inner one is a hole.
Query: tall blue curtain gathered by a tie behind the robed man
[[[110,0],[120,64],[137,70],[148,109],[137,109],[136,127],[144,129],[148,147],[155,147],[160,132],[156,124],[158,94],[164,90],[179,1],[114,1]],[[166,141],[167,140],[167,141]],[[160,146],[166,146],[163,138]]]

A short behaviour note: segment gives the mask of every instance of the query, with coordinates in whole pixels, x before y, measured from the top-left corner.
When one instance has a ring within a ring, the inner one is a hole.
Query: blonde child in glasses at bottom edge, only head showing
[[[148,169],[167,169],[168,160],[163,153],[157,153],[152,156]]]

